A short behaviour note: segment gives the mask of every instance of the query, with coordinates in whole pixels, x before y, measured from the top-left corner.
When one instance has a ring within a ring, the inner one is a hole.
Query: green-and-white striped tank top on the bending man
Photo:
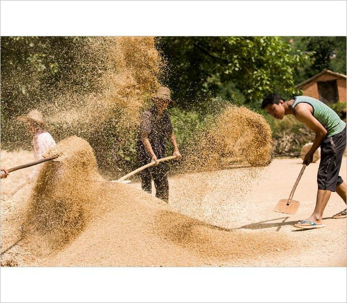
[[[307,96],[294,97],[294,102],[292,105],[294,114],[295,107],[298,105],[298,103],[308,103],[312,106],[312,114],[328,132],[326,135],[327,137],[342,132],[346,127],[346,124],[340,119],[338,114],[323,102]]]

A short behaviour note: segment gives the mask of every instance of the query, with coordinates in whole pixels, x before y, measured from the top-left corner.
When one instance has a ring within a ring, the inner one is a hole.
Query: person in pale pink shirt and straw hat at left
[[[45,131],[46,123],[43,119],[42,113],[37,109],[29,111],[26,115],[21,115],[18,117],[22,121],[27,130],[34,136],[33,137],[33,147],[34,147],[34,157],[35,160],[40,160],[43,158],[43,154],[52,146],[55,145],[55,141],[52,136]],[[35,166],[35,169],[30,174],[29,178],[32,179],[38,172],[39,165]]]

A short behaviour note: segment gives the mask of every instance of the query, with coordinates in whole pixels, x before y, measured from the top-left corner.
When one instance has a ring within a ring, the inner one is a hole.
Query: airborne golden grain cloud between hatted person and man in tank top
[[[267,165],[272,160],[271,129],[246,107],[228,106],[202,136],[184,163],[185,171],[211,171],[229,162]]]

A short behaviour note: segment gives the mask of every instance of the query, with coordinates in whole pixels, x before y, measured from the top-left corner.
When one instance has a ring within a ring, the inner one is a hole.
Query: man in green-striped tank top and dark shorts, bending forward
[[[346,124],[330,107],[307,96],[296,96],[285,101],[278,94],[271,93],[264,97],[261,108],[280,120],[285,115],[293,114],[315,132],[313,145],[305,155],[303,164],[309,165],[313,160],[314,152],[321,147],[316,207],[307,220],[300,221],[294,226],[305,229],[324,227],[322,216],[331,192],[336,191],[346,203],[346,184],[338,175],[346,147]],[[346,210],[332,216],[332,218],[345,217]]]

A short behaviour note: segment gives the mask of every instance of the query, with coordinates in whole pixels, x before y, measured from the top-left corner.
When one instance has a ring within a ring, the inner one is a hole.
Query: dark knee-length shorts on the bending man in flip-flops
[[[335,192],[336,186],[343,182],[338,173],[346,147],[346,128],[334,136],[325,138],[320,147],[318,189]]]

